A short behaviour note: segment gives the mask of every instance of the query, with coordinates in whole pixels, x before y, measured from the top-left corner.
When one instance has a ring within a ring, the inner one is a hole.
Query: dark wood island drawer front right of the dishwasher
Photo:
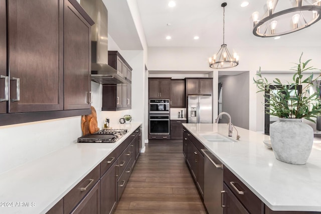
[[[223,168],[224,183],[251,213],[261,212],[262,201],[228,168]]]

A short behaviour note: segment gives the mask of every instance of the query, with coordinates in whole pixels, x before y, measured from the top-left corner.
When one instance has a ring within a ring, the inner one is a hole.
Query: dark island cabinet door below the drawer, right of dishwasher
[[[231,192],[229,187],[223,183],[223,213],[224,214],[249,214],[247,209],[242,205],[242,203],[235,197],[235,195]]]

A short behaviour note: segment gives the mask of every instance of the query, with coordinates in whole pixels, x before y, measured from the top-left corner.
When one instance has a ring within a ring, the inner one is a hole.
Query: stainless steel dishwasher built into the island
[[[223,213],[223,164],[207,149],[202,149],[204,159],[204,204],[209,214]]]

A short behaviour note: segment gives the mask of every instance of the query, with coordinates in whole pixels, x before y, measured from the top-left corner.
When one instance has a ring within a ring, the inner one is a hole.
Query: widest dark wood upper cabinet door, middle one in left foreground
[[[7,3],[9,112],[62,110],[63,0]]]

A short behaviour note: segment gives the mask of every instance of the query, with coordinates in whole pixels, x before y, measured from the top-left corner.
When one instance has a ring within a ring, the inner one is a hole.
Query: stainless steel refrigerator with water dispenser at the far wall
[[[188,96],[188,123],[213,123],[213,102],[210,95]]]

